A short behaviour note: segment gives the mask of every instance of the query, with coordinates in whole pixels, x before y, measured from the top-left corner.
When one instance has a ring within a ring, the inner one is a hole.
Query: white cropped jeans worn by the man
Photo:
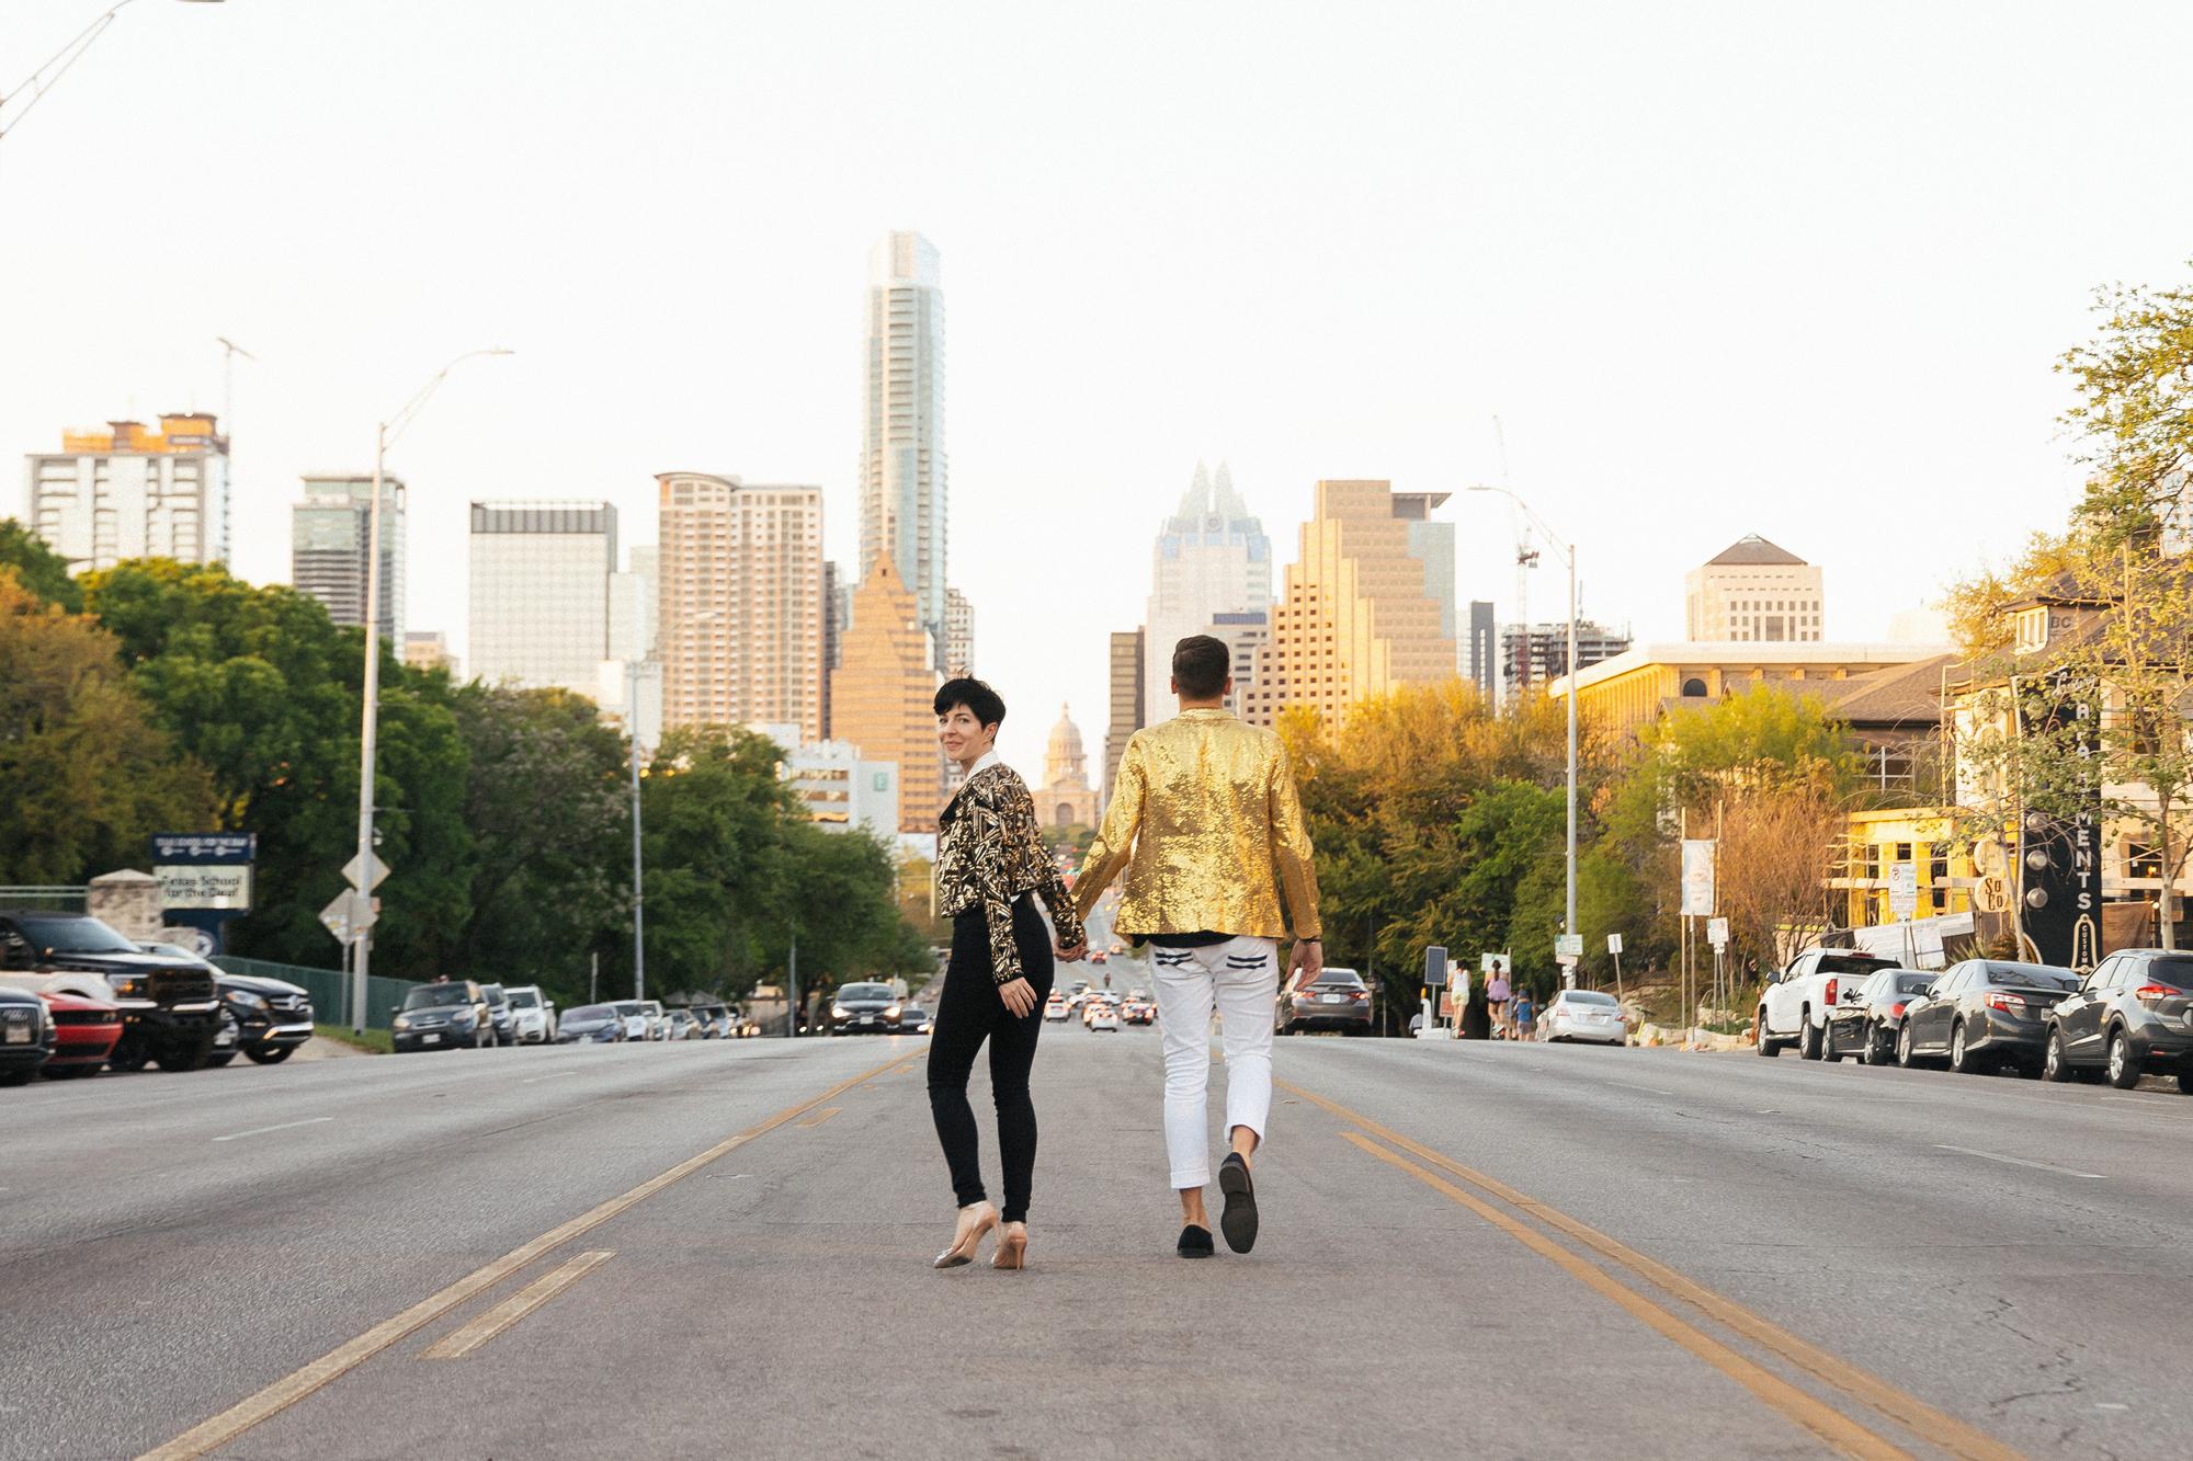
[[[1279,941],[1228,939],[1206,948],[1149,948],[1164,1044],[1164,1154],[1173,1187],[1211,1182],[1204,1097],[1211,1088],[1211,1011],[1226,1051],[1226,1130],[1246,1125],[1263,1141],[1272,1114],[1272,1020],[1279,1000]]]

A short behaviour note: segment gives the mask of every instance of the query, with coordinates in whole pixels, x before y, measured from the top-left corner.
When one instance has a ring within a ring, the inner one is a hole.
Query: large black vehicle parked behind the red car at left
[[[123,1011],[123,1038],[107,1055],[116,1071],[143,1071],[147,1060],[197,1071],[221,1031],[206,963],[147,954],[88,913],[0,913],[0,970],[26,987],[112,1000]]]

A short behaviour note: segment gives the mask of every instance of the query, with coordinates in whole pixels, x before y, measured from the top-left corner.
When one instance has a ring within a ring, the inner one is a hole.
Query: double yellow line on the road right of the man
[[[1583,1248],[1597,1253],[1601,1259],[1607,1259],[1616,1268],[1623,1268],[1643,1279],[1645,1283],[1649,1283],[1651,1288],[1658,1288],[1662,1294],[1669,1294],[1691,1305],[1693,1310],[1697,1310],[1713,1323],[1722,1325],[1730,1334],[1737,1334],[1743,1340],[1757,1345],[1759,1349],[1776,1356],[1779,1360],[1785,1360],[1787,1364],[1811,1375],[1814,1380],[1836,1391],[1838,1395],[1860,1402],[1862,1406],[1875,1411],[1877,1415],[1895,1422],[1904,1430],[1925,1437],[1930,1446],[1936,1446],[1950,1452],[1952,1457],[1963,1457],[1965,1461],[2015,1461],[2015,1457],[2020,1457],[2018,1450],[2004,1446],[2002,1441],[1980,1430],[1974,1430],[1954,1415],[1947,1415],[1925,1404],[1917,1395],[1899,1391],[1897,1386],[1888,1384],[1877,1375],[1868,1375],[1866,1371],[1849,1364],[1847,1360],[1838,1360],[1825,1349],[1800,1340],[1798,1336],[1761,1318],[1759,1314],[1752,1314],[1743,1305],[1732,1303],[1722,1294],[1715,1294],[1713,1290],[1686,1279],[1667,1264],[1660,1264],[1658,1259],[1651,1259],[1638,1253],[1636,1248],[1629,1248],[1627,1244],[1607,1237],[1599,1228],[1577,1222],[1568,1213],[1546,1207],[1544,1202],[1515,1191],[1507,1182],[1500,1182],[1498,1178],[1476,1171],[1474,1167],[1465,1167],[1425,1147],[1419,1141],[1410,1141],[1401,1132],[1384,1128],[1377,1121],[1371,1121],[1368,1117],[1353,1112],[1347,1106],[1340,1106],[1338,1101],[1329,1101],[1316,1095],[1314,1090],[1303,1090],[1300,1086],[1294,1086],[1289,1081],[1274,1081],[1274,1084],[1309,1101],[1311,1106],[1320,1106],[1340,1121],[1347,1121],[1349,1125],[1357,1128],[1353,1132],[1342,1132],[1342,1136],[1347,1136],[1351,1143],[1355,1143],[1371,1156],[1379,1158],[1382,1163],[1388,1163],[1390,1167],[1397,1167],[1414,1176],[1432,1191],[1439,1191],[1452,1202],[1469,1209],[1485,1222],[1493,1224],[1522,1246],[1531,1248],[1546,1261],[1555,1264],[1557,1268],[1581,1281],[1592,1292],[1610,1299],[1623,1312],[1632,1314],[1640,1323],[1649,1325],[1654,1332],[1662,1334],[1664,1338],[1691,1351],[1719,1373],[1728,1375],[1746,1391],[1757,1395],[1763,1404],[1772,1406],[1781,1415],[1805,1426],[1836,1450],[1849,1457],[1864,1457],[1868,1461],[1886,1457],[1910,1457],[1910,1452],[1904,1446],[1860,1426],[1849,1415],[1827,1404],[1818,1395],[1798,1389],[1796,1384],[1783,1380],[1779,1373],[1759,1364],[1750,1356],[1706,1334],[1689,1318],[1684,1318],[1678,1310],[1660,1303],[1651,1294],[1638,1292],[1636,1288],[1621,1283],[1607,1268],[1601,1268],[1599,1264],[1579,1257],[1570,1248],[1564,1248],[1561,1244],[1546,1237],[1544,1231],[1531,1226],[1531,1222],[1526,1220],[1535,1220],[1546,1228],[1553,1228],[1575,1239]],[[1371,1141],[1371,1136],[1375,1136],[1377,1141]],[[1404,1156],[1404,1152],[1408,1156]],[[1419,1160],[1408,1160],[1410,1156]],[[1461,1185],[1447,1178],[1458,1178]],[[1487,1198],[1507,1204],[1507,1209],[1511,1211],[1496,1207]]]

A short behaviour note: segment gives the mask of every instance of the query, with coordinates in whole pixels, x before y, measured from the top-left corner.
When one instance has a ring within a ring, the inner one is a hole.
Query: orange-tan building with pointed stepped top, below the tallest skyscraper
[[[853,623],[831,671],[831,737],[862,761],[899,768],[899,831],[936,831],[945,761],[936,746],[936,654],[921,608],[888,553],[853,590]]]

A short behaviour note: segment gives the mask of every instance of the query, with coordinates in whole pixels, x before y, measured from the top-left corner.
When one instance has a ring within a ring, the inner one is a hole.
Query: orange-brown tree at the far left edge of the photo
[[[204,766],[129,687],[114,636],[0,566],[0,882],[145,867],[154,831],[213,816]]]

